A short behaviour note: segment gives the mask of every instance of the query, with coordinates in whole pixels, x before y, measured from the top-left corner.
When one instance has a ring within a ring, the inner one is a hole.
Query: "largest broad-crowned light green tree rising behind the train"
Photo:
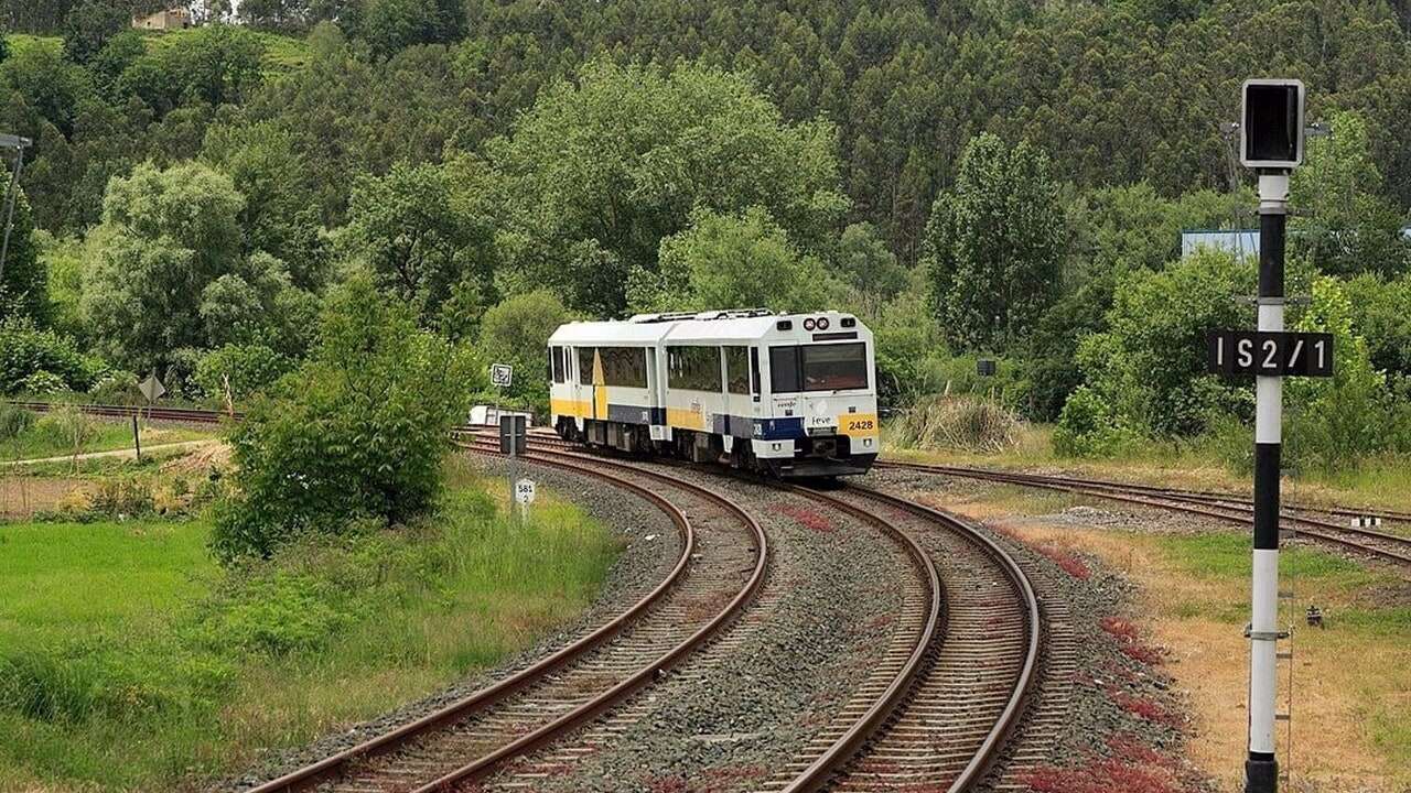
[[[762,206],[818,251],[847,200],[834,131],[789,124],[745,78],[697,65],[663,73],[594,61],[543,90],[509,138],[502,175],[512,282],[549,285],[574,309],[615,315],[629,272],[656,272],[665,237],[697,207]],[[600,285],[584,293],[584,279]]]

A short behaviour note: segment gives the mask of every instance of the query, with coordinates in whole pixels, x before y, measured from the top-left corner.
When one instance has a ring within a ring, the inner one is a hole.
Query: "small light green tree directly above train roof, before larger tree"
[[[817,257],[801,253],[769,210],[701,209],[686,230],[662,240],[660,270],[632,274],[635,310],[770,308],[810,310],[831,296]]]

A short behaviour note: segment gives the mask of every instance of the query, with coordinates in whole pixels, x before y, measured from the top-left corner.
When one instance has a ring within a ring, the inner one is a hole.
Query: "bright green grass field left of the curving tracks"
[[[436,519],[243,573],[189,522],[0,525],[0,790],[188,790],[528,646],[617,540],[549,494],[504,519],[452,463]]]

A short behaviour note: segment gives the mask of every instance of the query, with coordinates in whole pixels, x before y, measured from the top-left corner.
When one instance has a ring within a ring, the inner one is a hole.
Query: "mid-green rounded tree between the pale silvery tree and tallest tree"
[[[340,243],[429,323],[456,284],[491,279],[491,227],[463,210],[446,168],[396,165],[357,181]]]

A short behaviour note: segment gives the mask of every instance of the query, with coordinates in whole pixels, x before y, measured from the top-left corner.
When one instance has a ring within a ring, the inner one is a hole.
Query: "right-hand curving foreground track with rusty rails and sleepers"
[[[1037,680],[1041,615],[1019,564],[971,525],[859,487],[811,494],[886,526],[926,571],[889,663],[765,790],[967,790],[993,768]],[[927,593],[927,590],[930,590]],[[921,600],[930,600],[926,607]],[[1026,737],[1027,738],[1027,737]]]

